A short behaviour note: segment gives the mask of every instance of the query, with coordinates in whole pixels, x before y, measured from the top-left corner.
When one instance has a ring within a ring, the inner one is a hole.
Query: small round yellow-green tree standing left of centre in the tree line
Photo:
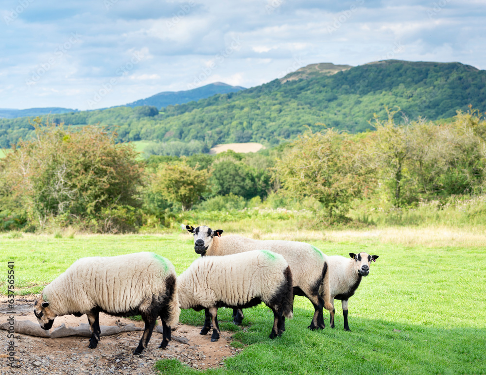
[[[154,176],[153,189],[187,211],[208,191],[209,177],[207,170],[191,168],[185,160],[162,164]]]

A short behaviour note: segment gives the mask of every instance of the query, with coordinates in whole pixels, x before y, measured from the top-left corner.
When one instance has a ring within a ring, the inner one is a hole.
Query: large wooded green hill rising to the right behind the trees
[[[403,116],[446,119],[469,104],[486,109],[486,71],[460,63],[386,60],[333,74],[313,67],[297,74],[297,79],[284,83],[276,79],[198,102],[168,105],[158,114],[147,107],[117,107],[55,115],[54,120],[116,126],[120,141],[193,140],[211,148],[232,142],[276,145],[301,134],[306,124],[313,130],[325,124],[362,132],[371,129],[368,120],[374,113],[386,116],[385,106],[401,108],[397,121]],[[19,136],[28,136],[29,126],[27,119],[0,119],[0,145],[9,147]]]

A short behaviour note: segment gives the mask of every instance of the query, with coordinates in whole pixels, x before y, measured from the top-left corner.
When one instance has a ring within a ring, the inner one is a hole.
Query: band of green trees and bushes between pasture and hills
[[[451,121],[397,124],[398,110],[369,121],[373,131],[308,129],[259,153],[152,155],[141,161],[116,134],[35,123],[0,161],[4,230],[74,226],[92,232],[173,225],[174,213],[312,201],[321,220],[348,220],[361,202],[414,207],[419,202],[484,194],[486,119],[469,108]],[[310,207],[310,206],[309,206]]]

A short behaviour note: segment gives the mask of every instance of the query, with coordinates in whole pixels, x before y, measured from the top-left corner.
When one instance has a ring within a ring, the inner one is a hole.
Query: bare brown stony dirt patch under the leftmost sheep
[[[36,296],[16,298],[15,317],[37,323],[33,313]],[[8,315],[5,296],[0,298],[0,324],[6,323]],[[78,326],[86,324],[86,315],[57,317],[51,331],[62,325]],[[160,322],[159,322],[160,323]],[[201,322],[202,324],[203,322]],[[143,327],[143,322],[100,314],[100,325],[135,324]],[[223,365],[226,357],[241,351],[231,347],[231,333],[221,332],[221,338],[211,342],[207,335],[199,335],[201,327],[177,324],[172,333],[172,341],[166,349],[159,349],[162,335],[154,330],[148,347],[140,356],[134,356],[142,331],[124,332],[103,336],[96,349],[88,349],[89,338],[69,336],[63,338],[41,338],[15,333],[15,364],[7,367],[7,331],[0,330],[0,374],[155,374],[153,365],[159,359],[175,358],[195,369],[214,368]]]

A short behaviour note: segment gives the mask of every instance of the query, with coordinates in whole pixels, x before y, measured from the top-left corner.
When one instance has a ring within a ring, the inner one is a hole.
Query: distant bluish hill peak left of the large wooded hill
[[[153,105],[157,108],[167,107],[168,105],[183,104],[200,99],[209,98],[216,94],[227,94],[228,92],[237,92],[244,90],[242,86],[226,85],[222,82],[205,85],[185,91],[164,91],[159,92],[149,98],[140,99],[136,102],[125,104],[128,107],[137,107],[139,105]]]

